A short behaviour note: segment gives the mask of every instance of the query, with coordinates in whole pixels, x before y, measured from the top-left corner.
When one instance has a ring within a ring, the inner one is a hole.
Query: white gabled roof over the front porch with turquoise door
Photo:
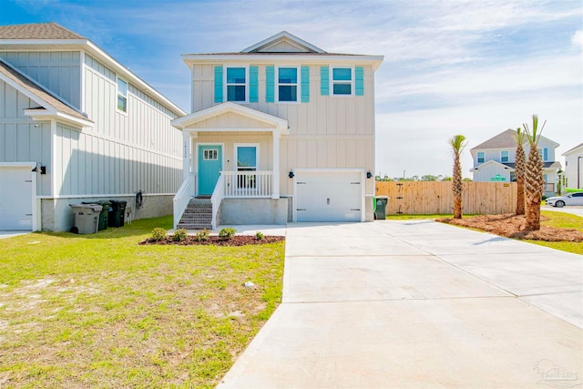
[[[226,102],[171,121],[186,131],[267,131],[289,133],[288,121],[265,112]]]

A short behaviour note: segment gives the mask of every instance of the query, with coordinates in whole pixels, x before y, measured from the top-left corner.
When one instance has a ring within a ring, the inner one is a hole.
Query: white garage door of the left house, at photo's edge
[[[32,230],[33,174],[29,167],[0,167],[0,230]]]

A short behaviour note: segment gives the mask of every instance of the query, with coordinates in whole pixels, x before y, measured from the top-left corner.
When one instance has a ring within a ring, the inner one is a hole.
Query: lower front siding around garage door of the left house
[[[3,162],[40,162],[46,174],[38,176],[36,194],[51,190],[50,123],[33,121],[24,109],[37,107],[35,101],[0,81],[0,164]]]

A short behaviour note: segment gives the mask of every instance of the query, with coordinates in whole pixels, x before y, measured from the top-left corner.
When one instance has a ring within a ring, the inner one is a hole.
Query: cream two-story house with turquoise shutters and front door
[[[175,225],[373,220],[383,56],[327,53],[284,31],[240,52],[182,59],[192,113],[172,121],[184,138]],[[208,215],[184,213],[205,201]]]

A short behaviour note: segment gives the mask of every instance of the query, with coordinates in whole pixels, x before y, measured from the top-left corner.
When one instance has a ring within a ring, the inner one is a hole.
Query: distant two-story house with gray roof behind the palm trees
[[[506,131],[489,138],[470,150],[474,167],[474,180],[486,181],[516,181],[515,157],[517,153],[517,131]],[[543,160],[543,175],[545,178],[545,196],[554,196],[557,190],[557,171],[561,164],[555,160],[555,148],[559,144],[545,137],[538,140],[538,151]],[[525,142],[525,152],[530,152],[530,145]]]

